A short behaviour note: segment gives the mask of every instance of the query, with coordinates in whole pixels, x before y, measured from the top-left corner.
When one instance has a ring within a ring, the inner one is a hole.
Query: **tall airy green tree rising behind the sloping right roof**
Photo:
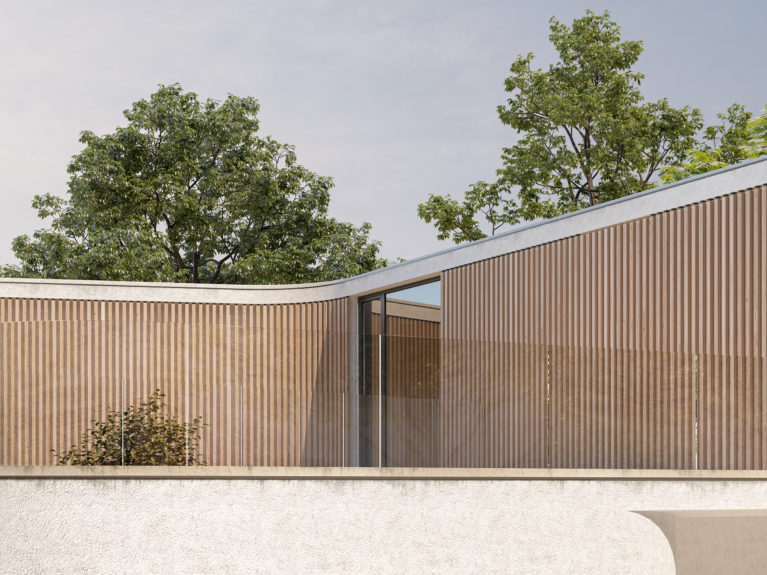
[[[549,39],[559,59],[547,70],[533,54],[511,65],[498,114],[520,136],[503,149],[497,181],[477,182],[463,201],[431,195],[419,205],[440,239],[476,240],[483,227],[495,233],[645,190],[694,145],[700,111],[645,101],[644,76],[632,70],[642,43],[622,42],[608,12],[586,11],[571,27],[552,18]]]

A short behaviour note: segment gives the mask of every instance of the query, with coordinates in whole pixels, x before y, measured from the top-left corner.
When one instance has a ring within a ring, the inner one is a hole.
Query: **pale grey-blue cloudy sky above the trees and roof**
[[[767,104],[763,2],[194,0],[0,3],[0,263],[45,222],[36,194],[66,196],[83,130],[124,124],[158,84],[253,96],[261,133],[332,176],[331,214],[370,222],[382,255],[445,247],[416,209],[492,179],[515,139],[498,120],[520,54],[553,62],[549,18],[609,10],[643,40],[645,97],[700,108]]]

